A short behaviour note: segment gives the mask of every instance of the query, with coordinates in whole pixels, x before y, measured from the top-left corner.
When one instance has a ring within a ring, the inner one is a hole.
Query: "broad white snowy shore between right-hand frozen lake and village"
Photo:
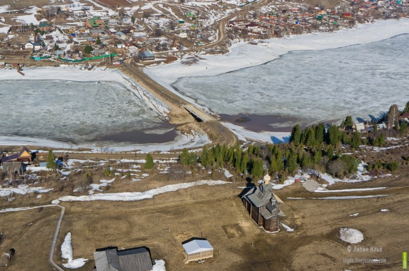
[[[289,51],[325,50],[354,44],[365,44],[389,39],[399,34],[409,33],[409,19],[378,20],[374,23],[358,24],[353,29],[337,32],[292,35],[286,38],[272,38],[254,45],[259,40],[233,44],[225,55],[201,55],[197,63],[181,64],[177,61],[167,65],[145,68],[154,79],[160,78],[164,84],[172,84],[181,77],[216,76],[221,73],[257,66],[274,60]],[[171,89],[172,90],[172,89]]]

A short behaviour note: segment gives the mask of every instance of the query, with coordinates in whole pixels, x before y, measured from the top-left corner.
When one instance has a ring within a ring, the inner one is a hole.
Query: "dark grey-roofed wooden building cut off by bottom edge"
[[[95,271],[152,270],[152,259],[144,248],[118,250],[118,247],[97,249],[94,252]]]

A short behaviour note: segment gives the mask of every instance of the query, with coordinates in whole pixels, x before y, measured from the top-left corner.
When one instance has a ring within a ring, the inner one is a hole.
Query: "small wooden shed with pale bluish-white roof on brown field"
[[[208,240],[194,239],[182,244],[185,263],[213,258],[213,247]]]

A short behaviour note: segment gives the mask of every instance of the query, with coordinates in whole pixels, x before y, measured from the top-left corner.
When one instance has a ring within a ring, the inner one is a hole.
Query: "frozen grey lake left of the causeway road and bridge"
[[[73,143],[154,143],[176,136],[162,115],[117,82],[4,80],[0,93],[0,135]]]

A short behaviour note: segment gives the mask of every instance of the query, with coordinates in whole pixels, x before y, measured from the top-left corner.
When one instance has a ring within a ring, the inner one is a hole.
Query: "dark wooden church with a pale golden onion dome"
[[[270,177],[264,176],[263,181],[245,193],[241,200],[257,226],[265,232],[276,233],[280,230],[280,216],[285,216],[280,210],[283,202],[272,192]]]

